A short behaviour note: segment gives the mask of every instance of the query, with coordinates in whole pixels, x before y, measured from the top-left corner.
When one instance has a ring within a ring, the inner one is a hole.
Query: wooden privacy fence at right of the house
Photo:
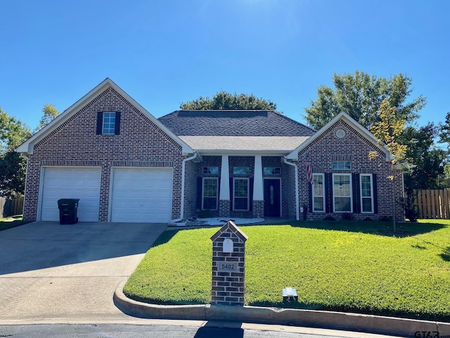
[[[413,202],[413,208],[418,211],[418,218],[450,219],[449,189],[414,190],[413,196],[408,198]]]

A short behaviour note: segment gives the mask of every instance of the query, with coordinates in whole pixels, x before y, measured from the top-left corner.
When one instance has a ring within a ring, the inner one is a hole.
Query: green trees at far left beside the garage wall
[[[30,127],[0,108],[0,196],[23,194],[26,161],[14,149],[30,136]]]

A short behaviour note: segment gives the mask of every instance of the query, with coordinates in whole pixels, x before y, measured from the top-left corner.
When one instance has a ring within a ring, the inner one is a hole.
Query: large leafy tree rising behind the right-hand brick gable
[[[326,125],[335,115],[345,111],[366,128],[380,122],[380,105],[383,100],[395,107],[399,119],[411,123],[418,118],[417,112],[425,106],[422,95],[406,102],[411,95],[412,79],[403,74],[375,77],[356,70],[354,74],[333,75],[334,88],[321,86],[316,101],[305,108],[304,118],[315,129]]]

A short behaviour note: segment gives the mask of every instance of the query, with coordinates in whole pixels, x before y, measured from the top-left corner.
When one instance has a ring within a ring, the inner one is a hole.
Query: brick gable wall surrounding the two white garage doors
[[[96,134],[97,113],[102,111],[121,113],[119,135]],[[34,146],[34,154],[30,155],[27,163],[24,218],[35,220],[37,217],[41,165],[73,163],[89,166],[94,163],[101,166],[98,220],[107,221],[113,161],[116,165],[131,163],[132,166],[172,167],[172,218],[177,218],[180,214],[183,158],[179,144],[109,87]]]

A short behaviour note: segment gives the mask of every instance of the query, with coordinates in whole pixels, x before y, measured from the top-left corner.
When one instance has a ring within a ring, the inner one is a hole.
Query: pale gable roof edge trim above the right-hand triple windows
[[[321,135],[324,132],[326,132],[331,126],[333,126],[338,120],[344,120],[351,127],[353,127],[354,130],[359,132],[359,134],[361,134],[362,137],[367,139],[368,142],[371,142],[372,144],[377,146],[381,151],[383,151],[386,154],[387,160],[390,160],[392,158],[392,155],[386,146],[380,146],[378,139],[371,132],[369,132],[365,127],[363,127],[362,125],[357,123],[356,120],[354,120],[354,118],[352,118],[350,115],[348,115],[347,113],[345,113],[343,111],[341,111],[338,115],[335,115],[335,117],[333,119],[331,119],[330,121],[328,121],[328,123],[326,125],[321,127],[321,129],[319,129],[316,132],[316,134],[309,137],[309,139],[307,139],[307,141],[300,144],[300,146],[297,146],[297,148],[294,149],[292,152],[290,152],[290,154],[288,154],[288,156],[286,156],[286,158],[288,160],[296,160],[298,158],[298,153],[300,151],[302,151],[302,149],[305,149],[307,146],[309,146],[309,144],[314,142],[315,139],[321,137]]]

